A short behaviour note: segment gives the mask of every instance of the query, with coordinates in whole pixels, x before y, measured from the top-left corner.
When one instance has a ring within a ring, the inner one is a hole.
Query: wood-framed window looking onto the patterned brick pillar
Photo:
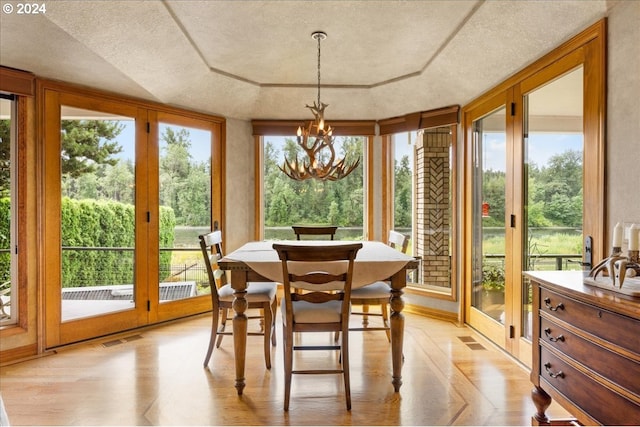
[[[408,253],[420,260],[408,283],[419,292],[456,299],[456,127],[458,107],[384,120],[389,171],[383,178],[388,229],[409,236]],[[383,173],[383,177],[385,174]],[[385,233],[388,230],[383,230]]]

